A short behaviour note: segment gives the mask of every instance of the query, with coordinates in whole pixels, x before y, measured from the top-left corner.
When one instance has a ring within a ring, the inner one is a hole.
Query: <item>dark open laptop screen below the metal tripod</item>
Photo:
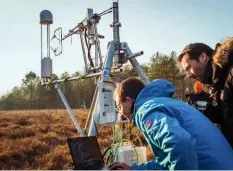
[[[67,139],[75,170],[98,170],[104,167],[100,147],[95,136]]]

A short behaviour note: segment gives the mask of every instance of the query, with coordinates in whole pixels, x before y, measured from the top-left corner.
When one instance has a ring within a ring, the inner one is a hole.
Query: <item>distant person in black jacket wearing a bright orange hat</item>
[[[197,108],[213,123],[220,124],[219,113],[216,112],[216,107],[212,104],[211,95],[203,90],[201,82],[197,81],[193,86],[194,93],[186,94],[188,104]]]

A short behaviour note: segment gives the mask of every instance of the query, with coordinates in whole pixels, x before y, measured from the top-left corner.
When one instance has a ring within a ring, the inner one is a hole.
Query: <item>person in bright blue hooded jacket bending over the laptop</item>
[[[145,86],[137,78],[117,86],[119,113],[144,134],[155,160],[110,170],[233,170],[233,151],[222,133],[194,107],[172,98],[172,83],[157,79]]]

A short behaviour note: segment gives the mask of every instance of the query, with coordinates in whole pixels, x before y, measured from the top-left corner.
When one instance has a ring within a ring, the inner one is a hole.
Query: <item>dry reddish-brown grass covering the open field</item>
[[[73,110],[84,128],[88,110]],[[131,125],[127,124],[131,129]],[[140,132],[133,128],[130,136],[139,144]],[[107,137],[108,135],[108,137]],[[66,110],[0,111],[0,169],[1,170],[60,170],[68,169],[71,156],[66,140],[78,136]],[[101,149],[111,144],[112,129],[99,132]],[[153,158],[147,147],[148,160]]]

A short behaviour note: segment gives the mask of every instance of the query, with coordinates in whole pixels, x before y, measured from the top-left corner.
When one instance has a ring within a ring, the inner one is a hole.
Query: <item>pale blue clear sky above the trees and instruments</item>
[[[19,86],[25,74],[40,75],[39,14],[48,9],[53,13],[51,32],[58,27],[68,33],[86,15],[87,8],[100,13],[112,5],[112,0],[2,0],[0,6],[0,94]],[[216,42],[233,36],[233,1],[222,0],[120,0],[120,40],[127,42],[133,53],[144,51],[140,63],[161,52],[179,53],[191,42],[203,42],[214,47]],[[102,17],[98,30],[105,35],[102,52],[112,40],[112,14]],[[52,34],[51,34],[52,36]],[[84,67],[78,36],[63,42],[63,53],[53,59],[53,71],[61,75]]]

